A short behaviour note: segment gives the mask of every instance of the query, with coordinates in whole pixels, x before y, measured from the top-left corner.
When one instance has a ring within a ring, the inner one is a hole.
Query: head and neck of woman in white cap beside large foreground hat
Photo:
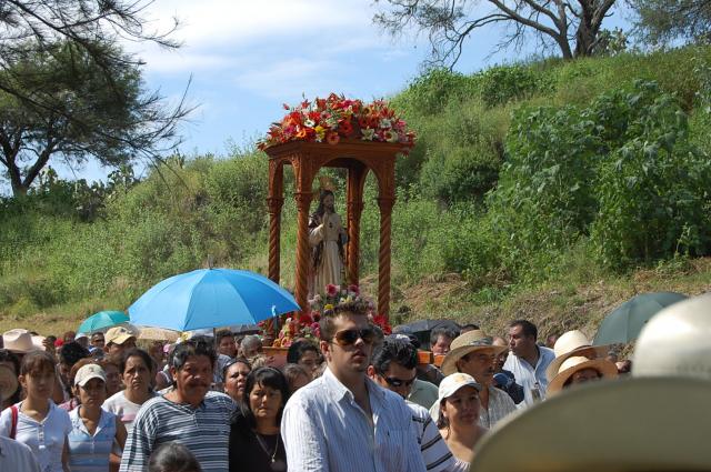
[[[437,426],[458,464],[471,462],[474,445],[487,432],[479,425],[481,389],[473,376],[462,372],[448,375],[440,383]]]

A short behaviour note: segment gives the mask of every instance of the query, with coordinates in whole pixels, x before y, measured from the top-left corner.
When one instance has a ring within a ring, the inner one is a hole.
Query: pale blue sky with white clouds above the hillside
[[[485,2],[483,2],[485,3]],[[331,92],[372,100],[403,90],[428,57],[425,38],[399,38],[373,24],[381,3],[372,0],[156,0],[146,10],[149,26],[164,31],[178,18],[177,50],[126,43],[144,62],[147,88],[177,103],[187,90],[196,107],[181,125],[186,155],[226,155],[230,143],[248,147],[297,104]],[[480,7],[481,8],[481,7]],[[621,21],[610,19],[608,28]],[[467,43],[457,70],[471,73],[535,52],[490,57],[499,33],[479,31]],[[60,177],[104,179],[111,169],[88,163]],[[139,168],[139,172],[142,172]]]

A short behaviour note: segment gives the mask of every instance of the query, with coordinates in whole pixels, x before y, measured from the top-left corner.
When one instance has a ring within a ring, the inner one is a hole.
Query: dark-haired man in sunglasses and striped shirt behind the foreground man
[[[373,354],[368,375],[383,389],[391,390],[407,399],[417,380],[418,351],[408,337],[393,334],[385,337]],[[419,404],[405,401],[412,413],[412,428],[420,444],[422,460],[428,472],[464,471],[468,464],[454,460],[442,439],[430,412]]]

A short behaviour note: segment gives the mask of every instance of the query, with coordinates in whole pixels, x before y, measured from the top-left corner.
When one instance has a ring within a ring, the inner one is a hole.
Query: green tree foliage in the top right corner
[[[711,0],[629,0],[637,11],[635,27],[652,44],[674,39],[708,41],[711,37]]]

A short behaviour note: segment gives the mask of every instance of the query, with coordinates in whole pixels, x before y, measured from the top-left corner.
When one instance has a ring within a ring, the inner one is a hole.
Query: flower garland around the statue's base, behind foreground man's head
[[[384,335],[392,333],[392,328],[388,323],[388,317],[375,314],[375,304],[372,300],[361,297],[358,285],[333,285],[328,284],[326,291],[309,300],[309,310],[301,314],[288,315],[283,322],[279,337],[272,344],[276,348],[289,348],[298,339],[307,339],[318,342],[320,339],[319,320],[323,312],[332,310],[339,303],[362,301],[368,307],[368,318],[379,327]]]

